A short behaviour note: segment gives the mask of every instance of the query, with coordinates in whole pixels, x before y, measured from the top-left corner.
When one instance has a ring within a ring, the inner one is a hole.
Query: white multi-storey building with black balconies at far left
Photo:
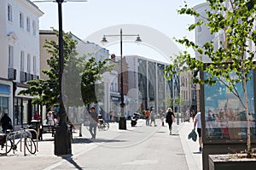
[[[18,93],[39,75],[38,18],[43,14],[29,0],[0,1],[0,112],[9,114],[15,128],[28,123],[38,110],[31,98]]]

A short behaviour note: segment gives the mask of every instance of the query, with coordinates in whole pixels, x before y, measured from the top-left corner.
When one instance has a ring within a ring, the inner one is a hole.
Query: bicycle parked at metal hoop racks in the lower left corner
[[[3,135],[3,141],[1,144],[0,155],[7,155],[10,150],[17,150],[18,144],[20,144],[20,151],[22,148],[22,143],[24,144],[24,155],[26,155],[26,149],[31,153],[35,154],[38,150],[38,145],[32,139],[32,133],[26,129],[20,129],[13,133],[6,133]],[[18,140],[18,142],[16,142]],[[25,148],[26,146],[26,148]]]

